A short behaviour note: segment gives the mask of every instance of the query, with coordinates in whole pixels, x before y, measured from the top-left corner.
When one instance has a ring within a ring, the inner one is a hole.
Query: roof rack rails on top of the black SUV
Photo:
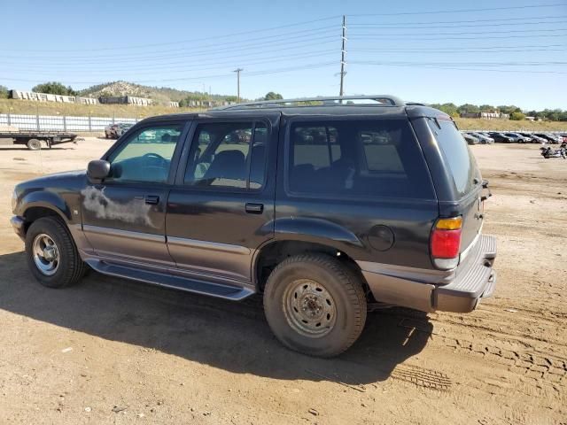
[[[369,96],[336,96],[336,97],[299,97],[297,99],[275,99],[275,100],[262,100],[258,102],[246,102],[244,104],[229,104],[228,106],[219,106],[213,108],[213,111],[226,111],[229,109],[247,109],[247,108],[270,108],[270,107],[296,107],[302,106],[300,104],[307,104],[303,106],[340,106],[350,105],[348,101],[353,100],[373,100],[377,104],[374,106],[404,106],[405,103],[399,97],[389,95],[369,95]],[[347,103],[344,103],[346,101]],[[317,104],[308,104],[317,102]],[[353,106],[361,106],[361,104],[354,104]]]

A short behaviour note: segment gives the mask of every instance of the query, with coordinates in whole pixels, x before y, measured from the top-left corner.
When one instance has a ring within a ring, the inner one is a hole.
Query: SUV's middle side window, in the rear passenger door
[[[260,189],[268,128],[262,122],[200,124],[184,182],[194,186]]]

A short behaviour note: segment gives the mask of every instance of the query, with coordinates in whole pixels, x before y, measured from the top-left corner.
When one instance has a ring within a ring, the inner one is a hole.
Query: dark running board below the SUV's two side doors
[[[232,301],[240,301],[241,299],[250,297],[254,293],[248,288],[198,281],[172,274],[163,274],[132,267],[119,266],[117,264],[106,263],[105,261],[98,259],[87,259],[85,262],[98,273],[108,274],[109,276],[152,283],[154,285],[165,286],[175,290],[187,290],[196,294],[230,299]]]

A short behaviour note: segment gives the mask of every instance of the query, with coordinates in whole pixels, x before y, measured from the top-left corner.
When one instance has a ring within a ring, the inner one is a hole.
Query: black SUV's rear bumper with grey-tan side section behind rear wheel
[[[496,286],[493,270],[496,239],[480,236],[476,246],[447,276],[443,272],[385,267],[359,263],[374,298],[379,302],[414,308],[423,312],[473,311],[481,298],[490,297]]]

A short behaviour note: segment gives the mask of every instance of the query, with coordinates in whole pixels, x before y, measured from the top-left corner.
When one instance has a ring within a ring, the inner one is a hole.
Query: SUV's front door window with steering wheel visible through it
[[[113,151],[109,180],[165,183],[183,124],[143,128]]]

